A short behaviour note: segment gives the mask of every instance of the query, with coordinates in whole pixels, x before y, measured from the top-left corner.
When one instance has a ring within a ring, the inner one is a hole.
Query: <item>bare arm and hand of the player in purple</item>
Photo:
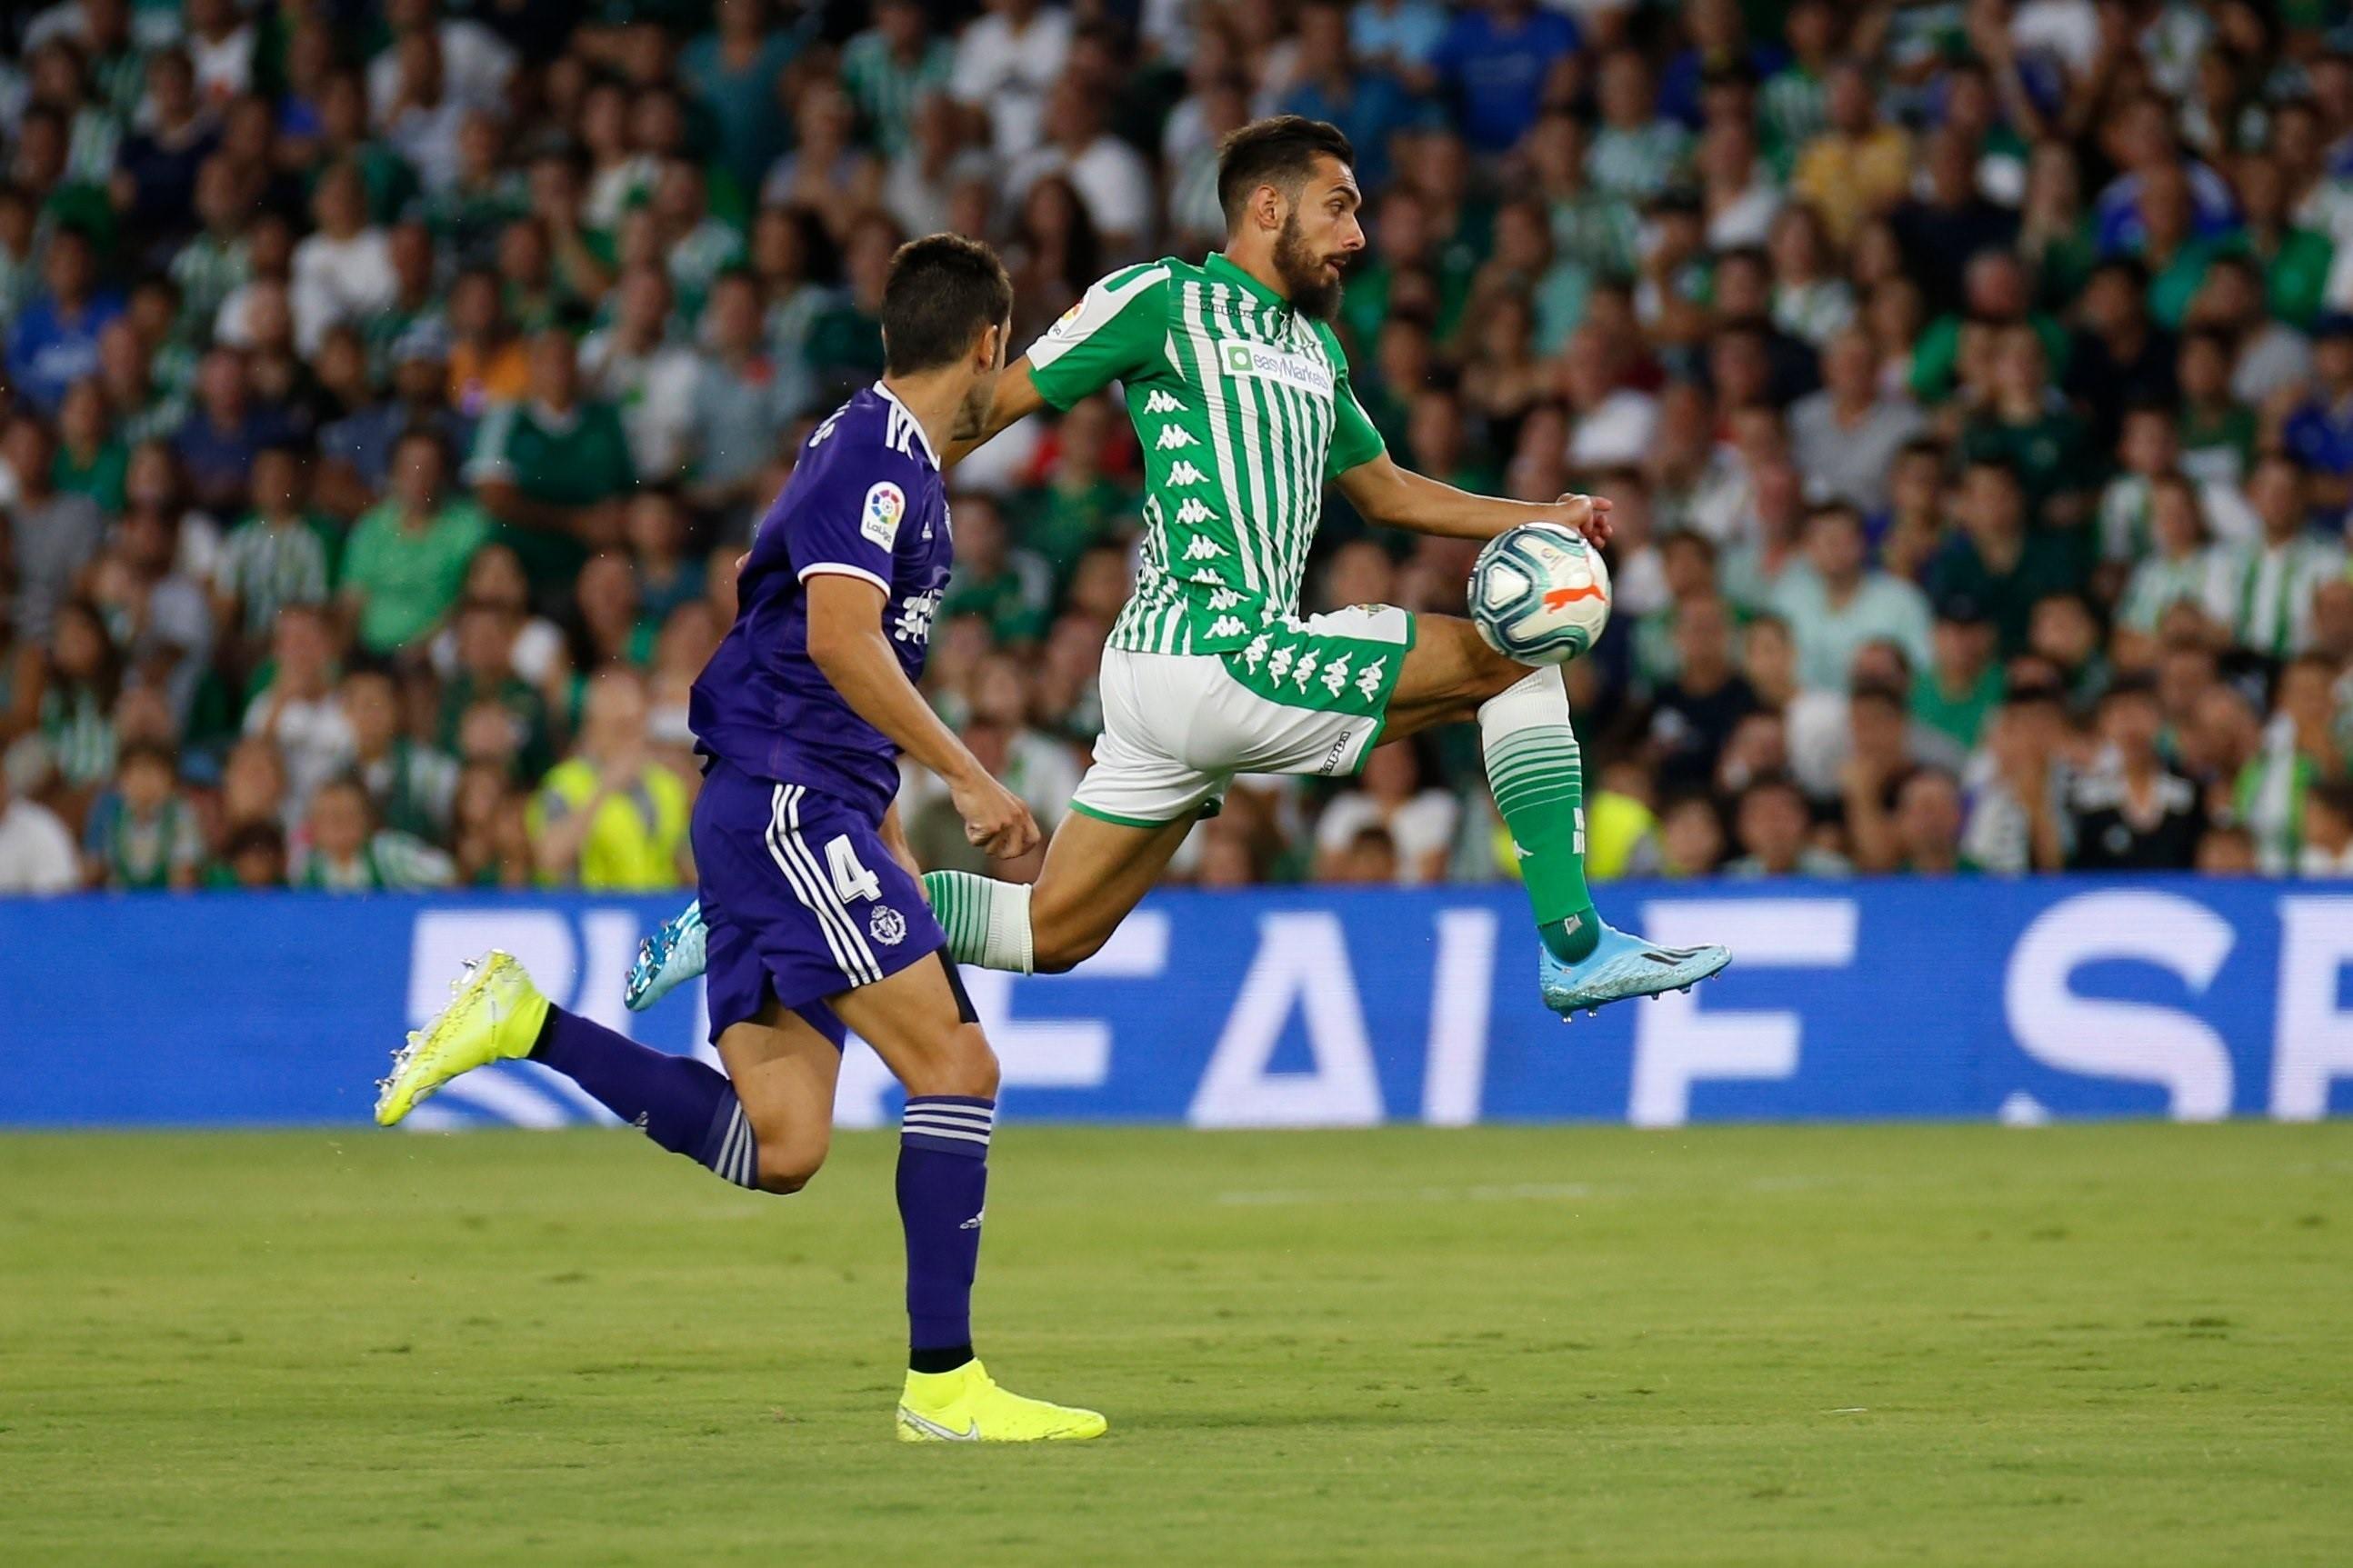
[[[821,569],[812,569],[802,588],[809,595],[809,661],[849,710],[946,780],[967,839],[998,860],[1035,849],[1038,820],[1021,797],[988,776],[899,668],[882,632],[885,592],[866,578]]]

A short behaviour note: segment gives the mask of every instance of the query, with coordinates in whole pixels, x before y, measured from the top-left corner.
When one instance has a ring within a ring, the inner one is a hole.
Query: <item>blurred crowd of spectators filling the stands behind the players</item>
[[[993,240],[1019,348],[1214,249],[1264,113],[1355,141],[1398,458],[1617,503],[1598,877],[2353,870],[2341,0],[56,0],[0,891],[689,884],[687,689],[892,249]],[[951,475],[929,696],[1049,827],[1136,475],[1108,397]],[[1468,555],[1334,498],[1304,609]],[[1176,875],[1511,865],[1466,731],[1240,780]]]

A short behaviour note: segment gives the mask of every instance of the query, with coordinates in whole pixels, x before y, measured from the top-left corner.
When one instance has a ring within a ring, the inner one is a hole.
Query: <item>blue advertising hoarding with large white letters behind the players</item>
[[[2212,879],[1612,884],[1687,997],[1562,1027],[1518,889],[1160,893],[1068,976],[967,971],[1026,1121],[1835,1121],[2353,1110],[2353,889]],[[701,987],[621,1011],[671,900],[0,900],[0,1126],[358,1124],[400,1034],[499,945],[666,1051]],[[896,1098],[852,1046],[838,1114]],[[424,1128],[605,1119],[565,1079],[461,1079]]]

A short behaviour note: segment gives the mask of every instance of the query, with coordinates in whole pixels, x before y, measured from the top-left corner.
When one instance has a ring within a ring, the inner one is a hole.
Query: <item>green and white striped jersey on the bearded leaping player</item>
[[[1325,480],[1381,456],[1325,322],[1224,256],[1101,280],[1028,350],[1056,409],[1118,381],[1144,552],[1108,646],[1224,654],[1299,614]]]

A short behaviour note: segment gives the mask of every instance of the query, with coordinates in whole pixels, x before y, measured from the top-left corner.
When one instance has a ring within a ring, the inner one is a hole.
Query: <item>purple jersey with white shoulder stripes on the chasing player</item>
[[[899,748],[809,658],[802,583],[833,571],[880,588],[882,630],[915,679],[953,555],[939,456],[906,404],[875,383],[816,425],[753,534],[734,625],[687,708],[696,748],[880,820],[899,795]]]

